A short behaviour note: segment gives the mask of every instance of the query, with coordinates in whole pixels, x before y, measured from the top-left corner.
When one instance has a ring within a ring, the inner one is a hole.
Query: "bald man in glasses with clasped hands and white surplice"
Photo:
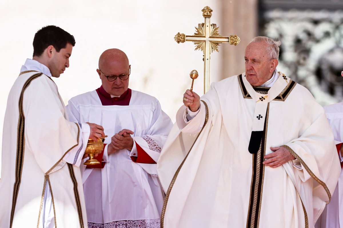
[[[109,49],[99,58],[100,88],[73,97],[67,109],[74,121],[104,126],[98,166],[83,172],[88,227],[159,227],[164,192],[156,162],[173,126],[155,97],[128,88],[127,55]]]

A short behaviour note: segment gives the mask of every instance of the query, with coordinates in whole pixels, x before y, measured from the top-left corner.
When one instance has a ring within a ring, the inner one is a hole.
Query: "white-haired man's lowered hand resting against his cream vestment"
[[[265,166],[276,168],[288,161],[295,159],[291,152],[282,146],[270,147],[270,149],[274,152],[264,156],[264,159],[267,159],[263,161]]]

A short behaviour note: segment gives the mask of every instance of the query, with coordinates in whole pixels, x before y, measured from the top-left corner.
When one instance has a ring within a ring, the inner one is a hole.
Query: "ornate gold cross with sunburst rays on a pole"
[[[184,33],[178,32],[174,37],[177,43],[184,43],[185,41],[192,41],[196,45],[196,50],[201,50],[204,53],[204,93],[210,89],[210,53],[218,51],[220,43],[234,44],[239,43],[240,39],[235,36],[222,37],[219,35],[219,27],[216,24],[210,24],[210,17],[212,16],[212,9],[209,6],[205,6],[201,10],[202,16],[205,18],[205,23],[198,24],[195,27],[196,32],[193,36],[186,36]]]

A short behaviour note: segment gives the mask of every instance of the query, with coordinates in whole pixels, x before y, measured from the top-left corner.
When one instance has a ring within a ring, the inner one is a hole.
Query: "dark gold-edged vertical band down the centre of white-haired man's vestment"
[[[265,114],[264,130],[262,133],[260,149],[257,153],[252,154],[252,177],[250,186],[249,210],[247,217],[246,228],[258,228],[260,219],[260,209],[262,202],[264,165],[263,157],[265,155],[265,147],[267,141],[269,103]]]

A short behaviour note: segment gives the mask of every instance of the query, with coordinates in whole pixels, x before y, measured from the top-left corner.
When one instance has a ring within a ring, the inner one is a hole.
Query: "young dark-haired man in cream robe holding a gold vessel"
[[[37,31],[8,96],[2,140],[0,227],[87,227],[80,163],[93,123],[70,122],[51,77],[69,67],[75,39],[56,26]]]

